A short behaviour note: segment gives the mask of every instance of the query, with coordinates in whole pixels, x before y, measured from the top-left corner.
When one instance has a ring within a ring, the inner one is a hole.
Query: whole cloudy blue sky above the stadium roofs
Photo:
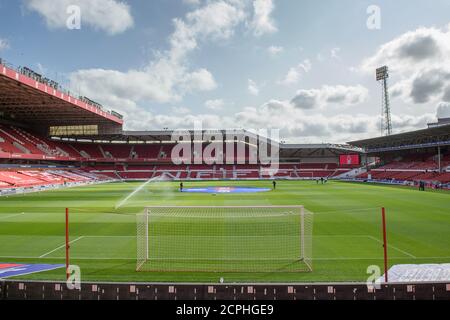
[[[0,0],[0,57],[123,113],[127,129],[202,120],[345,142],[379,135],[383,64],[396,132],[450,116],[448,12],[444,0]]]

